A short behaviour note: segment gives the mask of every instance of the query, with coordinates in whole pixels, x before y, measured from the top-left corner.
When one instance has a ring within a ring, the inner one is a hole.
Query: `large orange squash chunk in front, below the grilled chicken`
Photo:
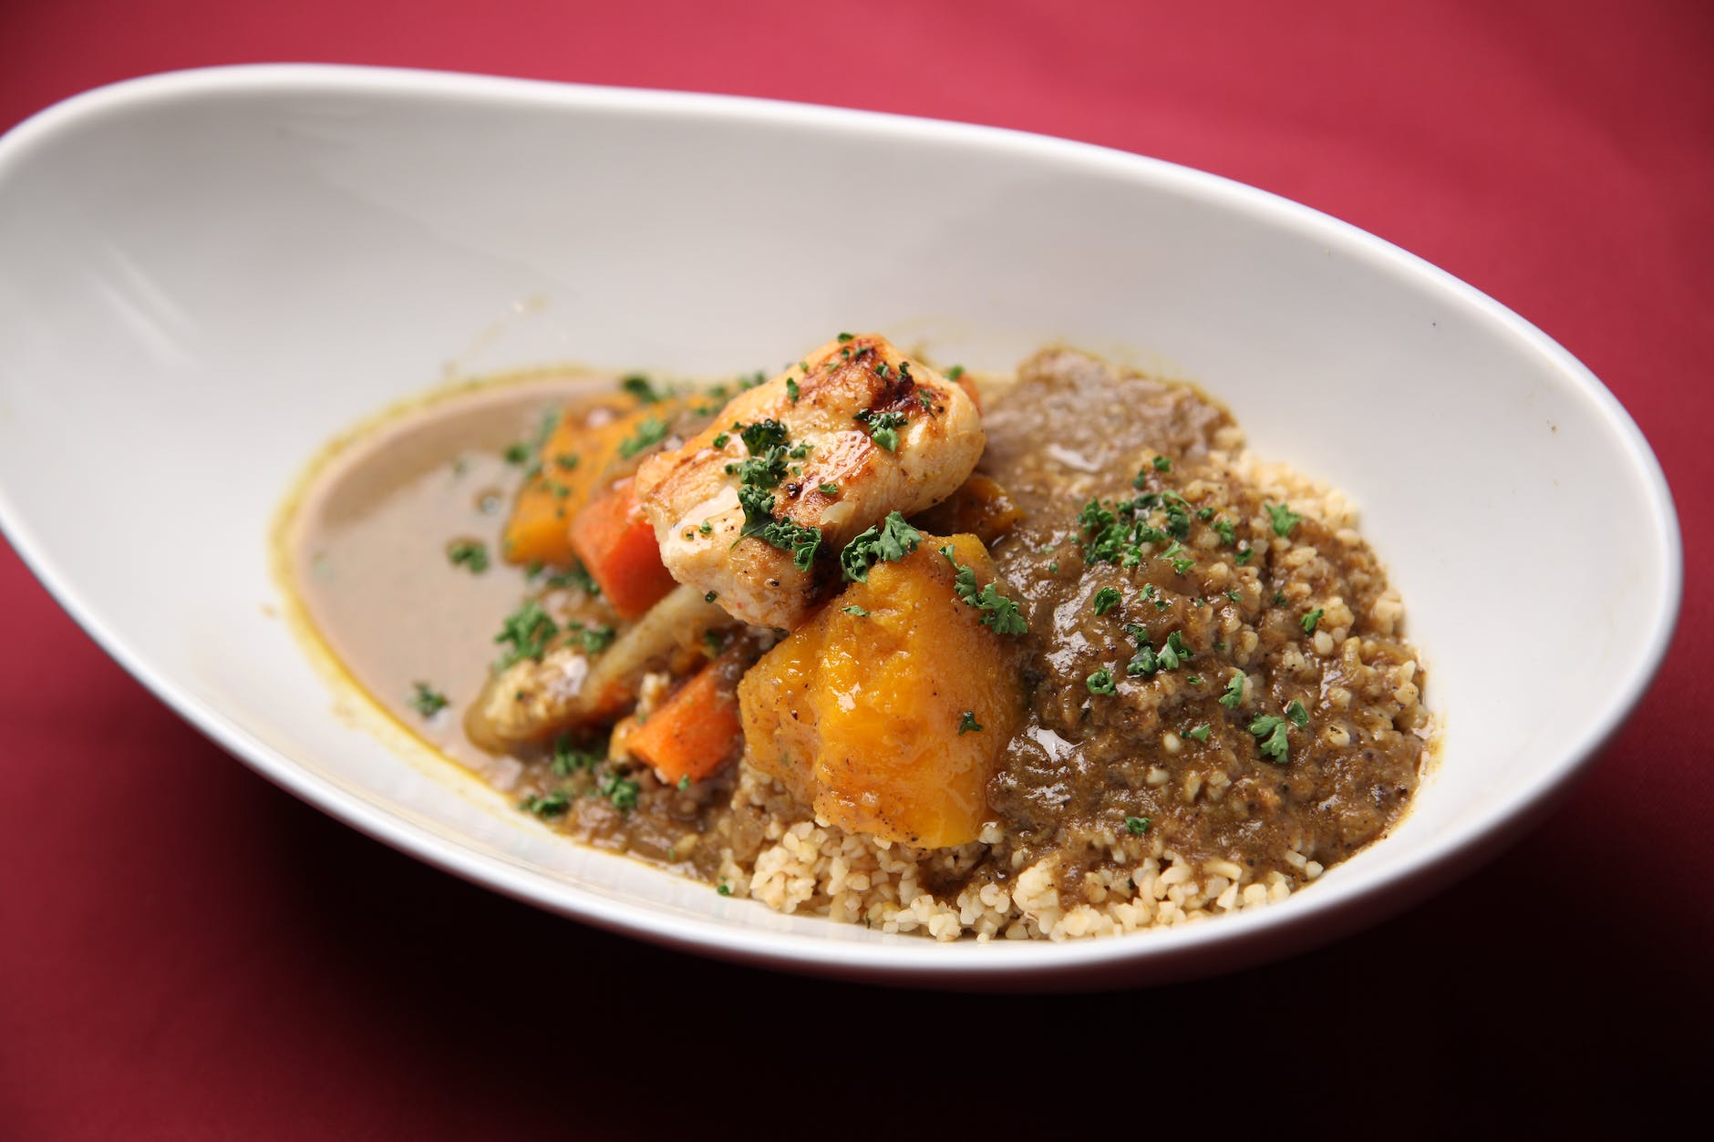
[[[739,684],[751,765],[840,828],[926,849],[980,835],[987,782],[1023,713],[1016,640],[958,598],[948,542],[979,585],[992,580],[974,535],[924,535]]]

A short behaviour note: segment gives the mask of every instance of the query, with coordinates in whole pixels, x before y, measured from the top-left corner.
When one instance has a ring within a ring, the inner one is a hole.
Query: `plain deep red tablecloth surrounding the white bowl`
[[[1683,617],[1568,804],[1407,916],[1207,983],[968,998],[710,964],[418,866],[168,713],[0,545],[0,1137],[1148,1137],[1174,1108],[1563,1137],[1705,1106],[1714,5],[0,0],[0,129],[262,60],[999,123],[1299,199],[1606,381],[1678,499]]]

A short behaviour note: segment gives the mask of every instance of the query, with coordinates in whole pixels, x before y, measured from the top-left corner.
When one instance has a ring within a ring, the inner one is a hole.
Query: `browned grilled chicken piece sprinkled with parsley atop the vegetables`
[[[984,444],[960,384],[883,336],[840,334],[651,456],[636,492],[675,580],[742,622],[792,629],[847,542],[950,496]]]

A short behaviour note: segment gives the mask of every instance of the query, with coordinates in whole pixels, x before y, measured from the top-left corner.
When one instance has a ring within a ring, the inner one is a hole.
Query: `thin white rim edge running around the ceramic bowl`
[[[955,988],[1164,983],[1226,971],[1325,943],[1359,924],[1404,909],[1429,890],[1496,854],[1541,820],[1558,797],[1570,790],[1575,778],[1589,770],[1603,746],[1640,701],[1664,660],[1683,593],[1683,549],[1678,516],[1659,460],[1613,393],[1541,329],[1450,273],[1351,223],[1220,175],[1088,142],[1003,127],[751,96],[336,63],[247,63],[125,79],[38,111],[0,135],[0,190],[3,190],[9,171],[26,163],[39,144],[110,115],[185,99],[327,93],[454,98],[506,106],[530,105],[571,115],[593,111],[662,118],[689,117],[756,129],[807,123],[840,132],[980,146],[1058,166],[1075,165],[1131,178],[1142,177],[1155,185],[1313,237],[1332,250],[1364,262],[1369,271],[1407,278],[1419,286],[1433,288],[1447,302],[1457,304],[1472,317],[1496,326],[1510,340],[1548,358],[1568,394],[1582,400],[1613,441],[1620,444],[1625,461],[1639,478],[1657,544],[1657,557],[1652,559],[1652,564],[1654,586],[1661,604],[1645,619],[1640,665],[1630,677],[1623,679],[1623,684],[1604,694],[1584,741],[1563,749],[1551,763],[1543,765],[1537,777],[1515,796],[1448,826],[1428,840],[1411,861],[1397,868],[1383,866],[1349,881],[1323,883],[1315,892],[1294,893],[1289,900],[1265,909],[1246,909],[1234,916],[1217,917],[1219,923],[1184,924],[1131,933],[1123,938],[936,943],[922,936],[902,935],[878,941],[855,941],[768,931],[713,914],[689,917],[636,907],[588,892],[576,883],[557,880],[542,869],[449,842],[435,830],[423,828],[314,768],[293,761],[288,754],[249,734],[214,705],[195,698],[173,679],[156,672],[94,605],[77,595],[14,506],[7,489],[0,487],[0,530],[7,533],[24,564],[53,598],[132,677],[266,778],[346,825],[427,864],[608,931],[716,959],[785,971]],[[338,429],[338,425],[331,429]],[[266,530],[264,526],[264,538]]]

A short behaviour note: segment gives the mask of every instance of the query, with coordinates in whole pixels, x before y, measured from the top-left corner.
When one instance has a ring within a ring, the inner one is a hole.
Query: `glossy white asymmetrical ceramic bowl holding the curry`
[[[1171,931],[881,936],[581,849],[401,761],[266,612],[309,456],[449,369],[718,376],[845,328],[980,369],[1052,340],[1162,369],[1351,492],[1445,718],[1397,833]],[[1577,360],[1306,207],[1003,130],[334,67],[141,79],[0,141],[0,521],[165,701],[387,844],[648,940],[953,986],[1220,971],[1472,868],[1637,701],[1681,571],[1659,466]]]

